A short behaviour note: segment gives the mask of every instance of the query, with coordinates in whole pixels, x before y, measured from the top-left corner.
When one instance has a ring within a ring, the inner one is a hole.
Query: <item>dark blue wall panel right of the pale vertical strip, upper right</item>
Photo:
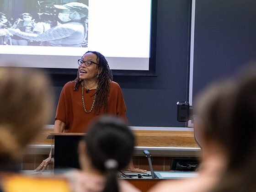
[[[196,0],[193,99],[256,60],[255,0]]]

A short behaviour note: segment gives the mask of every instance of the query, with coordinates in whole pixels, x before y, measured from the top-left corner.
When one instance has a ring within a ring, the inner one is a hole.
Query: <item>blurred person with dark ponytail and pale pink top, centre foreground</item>
[[[100,117],[78,147],[82,171],[67,174],[76,192],[139,192],[128,181],[117,179],[133,155],[134,136],[121,119]]]

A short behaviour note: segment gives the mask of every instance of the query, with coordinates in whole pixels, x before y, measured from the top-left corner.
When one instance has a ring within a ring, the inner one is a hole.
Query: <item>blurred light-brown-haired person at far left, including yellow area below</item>
[[[52,92],[42,72],[0,68],[0,191],[67,192],[63,179],[39,179],[17,174],[16,161],[29,142],[40,133],[51,115]]]

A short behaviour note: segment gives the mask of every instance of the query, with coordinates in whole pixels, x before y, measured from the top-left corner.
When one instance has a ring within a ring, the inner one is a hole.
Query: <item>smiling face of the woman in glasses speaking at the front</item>
[[[97,61],[97,55],[94,53],[86,53],[83,57],[82,57],[83,61],[93,61],[96,64],[98,63]],[[82,64],[81,66],[79,65],[78,69],[79,69],[79,78],[81,80],[95,80],[97,78],[97,75],[99,73],[99,69],[98,66],[91,63],[90,66],[85,66],[85,63]]]

